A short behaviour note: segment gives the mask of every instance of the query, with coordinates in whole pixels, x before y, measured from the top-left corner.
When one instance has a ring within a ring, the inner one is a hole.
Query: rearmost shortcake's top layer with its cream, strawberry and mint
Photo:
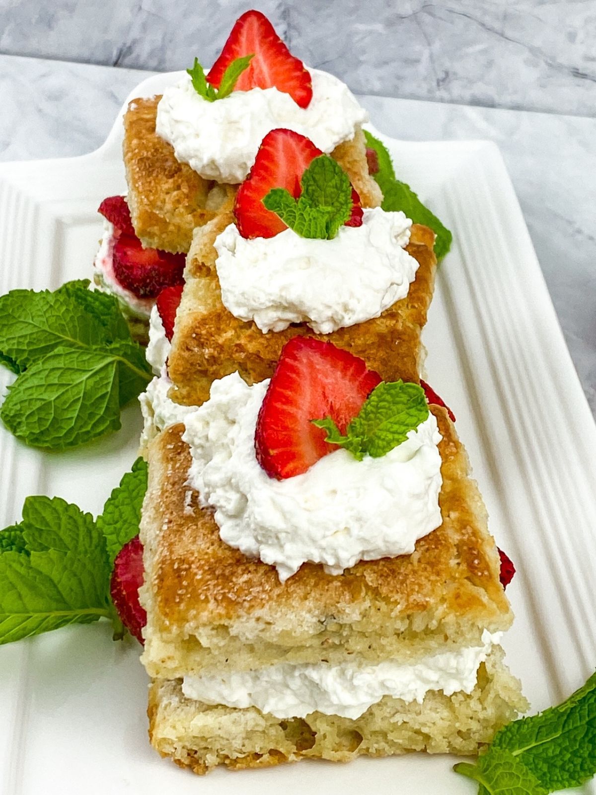
[[[226,70],[239,63],[230,83]],[[207,76],[196,59],[187,72],[164,95],[134,99],[124,117],[129,204],[145,246],[188,251],[193,229],[230,207],[277,127],[314,136],[364,206],[381,204],[366,162],[366,111],[341,80],[292,56],[260,11],[238,18]]]

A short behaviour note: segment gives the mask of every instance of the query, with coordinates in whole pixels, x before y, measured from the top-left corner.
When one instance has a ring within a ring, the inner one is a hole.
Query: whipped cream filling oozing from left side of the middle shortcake
[[[145,357],[156,376],[149,383],[145,392],[138,397],[143,415],[141,446],[148,444],[153,436],[169,428],[170,425],[184,422],[188,414],[195,410],[195,406],[180,405],[168,397],[168,391],[172,386],[167,368],[171,347],[168,337],[165,335],[161,316],[157,312],[157,306],[154,306],[149,318],[149,345],[145,351]]]

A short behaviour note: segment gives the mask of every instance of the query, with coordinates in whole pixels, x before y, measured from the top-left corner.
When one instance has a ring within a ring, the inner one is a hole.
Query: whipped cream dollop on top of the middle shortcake
[[[318,334],[378,317],[408,295],[418,262],[404,246],[412,221],[381,207],[364,211],[362,226],[340,227],[331,240],[285,229],[245,239],[231,223],[215,239],[224,306],[262,332],[308,323]]]

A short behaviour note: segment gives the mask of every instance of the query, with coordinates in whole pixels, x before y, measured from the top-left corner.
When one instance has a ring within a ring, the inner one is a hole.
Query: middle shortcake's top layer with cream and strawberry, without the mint
[[[248,383],[268,378],[296,335],[330,339],[387,380],[417,380],[435,235],[366,205],[332,239],[288,229],[264,197],[306,179],[317,153],[308,138],[273,130],[234,212],[195,229],[168,358],[175,401],[199,405],[236,370]]]

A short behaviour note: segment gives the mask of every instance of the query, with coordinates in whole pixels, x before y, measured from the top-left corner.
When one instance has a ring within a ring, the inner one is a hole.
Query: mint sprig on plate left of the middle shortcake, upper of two
[[[0,297],[0,362],[18,377],[0,418],[33,447],[62,450],[118,430],[152,377],[118,301],[70,281]]]

